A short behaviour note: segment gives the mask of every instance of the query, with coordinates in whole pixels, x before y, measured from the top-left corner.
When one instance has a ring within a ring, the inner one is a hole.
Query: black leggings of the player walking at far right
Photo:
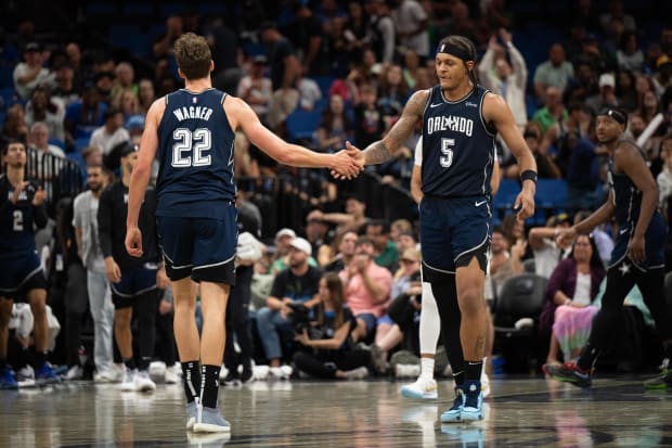
[[[663,269],[642,272],[625,259],[607,271],[607,287],[602,297],[602,308],[593,320],[589,343],[579,359],[579,367],[582,369],[591,368],[599,351],[607,348],[618,332],[623,300],[635,284],[642,292],[642,298],[651,312],[663,343],[672,343],[672,318],[665,303]]]

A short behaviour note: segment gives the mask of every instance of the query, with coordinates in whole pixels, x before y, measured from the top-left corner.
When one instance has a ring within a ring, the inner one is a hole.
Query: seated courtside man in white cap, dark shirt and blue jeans
[[[284,353],[282,347],[283,336],[285,341],[293,338],[289,305],[303,304],[307,308],[312,308],[319,300],[314,296],[322,272],[308,264],[311,254],[308,241],[302,238],[292,240],[288,267],[277,273],[266,307],[257,311],[257,329],[273,374],[281,374],[276,368],[280,368],[283,358],[292,359],[292,354]]]

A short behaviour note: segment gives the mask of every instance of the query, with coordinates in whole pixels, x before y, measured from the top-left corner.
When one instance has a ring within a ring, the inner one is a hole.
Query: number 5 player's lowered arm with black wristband
[[[534,193],[537,192],[537,162],[534,156],[532,156],[532,152],[525,142],[518,126],[516,126],[511,108],[502,97],[494,93],[486,95],[483,99],[483,118],[486,123],[494,124],[497,132],[516,157],[522,189],[516,197],[514,208],[520,208],[518,219],[527,219],[534,215]]]

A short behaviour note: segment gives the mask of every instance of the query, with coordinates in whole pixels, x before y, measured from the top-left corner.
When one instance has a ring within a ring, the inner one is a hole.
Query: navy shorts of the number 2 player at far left
[[[25,299],[30,290],[46,290],[47,281],[35,252],[0,256],[0,296]]]

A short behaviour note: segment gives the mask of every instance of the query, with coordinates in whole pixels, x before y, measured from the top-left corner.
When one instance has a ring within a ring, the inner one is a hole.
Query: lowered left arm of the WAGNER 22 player
[[[150,111],[147,111],[144,131],[140,140],[138,162],[133,167],[128,188],[126,249],[134,257],[142,255],[142,234],[138,228],[138,216],[140,215],[140,206],[142,205],[142,200],[144,199],[147,185],[150,184],[150,178],[152,177],[152,163],[156,157],[156,149],[158,148],[158,124],[165,110],[166,100],[159,98],[154,101]]]

